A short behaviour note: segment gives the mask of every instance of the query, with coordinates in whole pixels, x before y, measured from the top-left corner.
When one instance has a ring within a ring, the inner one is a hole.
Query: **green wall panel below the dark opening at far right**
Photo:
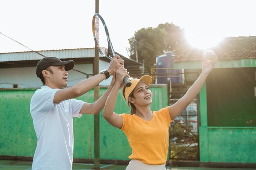
[[[200,161],[256,163],[256,127],[200,127],[199,132]]]

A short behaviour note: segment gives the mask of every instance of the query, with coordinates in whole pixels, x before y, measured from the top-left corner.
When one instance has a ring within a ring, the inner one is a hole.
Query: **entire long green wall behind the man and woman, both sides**
[[[167,106],[166,85],[151,85],[150,90],[153,93],[152,110]],[[29,112],[30,99],[34,91],[35,89],[0,90],[0,155],[34,155],[37,139]],[[101,88],[100,94],[105,91],[106,88]],[[93,102],[93,90],[78,99]],[[129,111],[120,90],[115,112],[121,114]],[[74,158],[94,157],[93,120],[93,115],[74,118]],[[101,159],[128,160],[131,153],[122,130],[110,126],[102,117],[102,113],[100,115],[100,150]]]

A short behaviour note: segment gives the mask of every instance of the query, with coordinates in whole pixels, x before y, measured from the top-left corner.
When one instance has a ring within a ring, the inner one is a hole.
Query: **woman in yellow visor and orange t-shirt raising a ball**
[[[124,98],[131,106],[131,113],[121,115],[113,111],[119,88],[122,86],[124,76],[128,74],[124,67],[117,69],[115,85],[106,101],[103,117],[110,125],[123,130],[128,138],[132,148],[129,159],[132,160],[126,170],[166,170],[170,123],[192,102],[217,61],[216,55],[211,61],[206,61],[204,58],[202,73],[186,94],[172,106],[159,111],[150,110],[152,93],[148,85],[152,77],[144,75],[140,79],[132,79],[132,85],[123,89]]]

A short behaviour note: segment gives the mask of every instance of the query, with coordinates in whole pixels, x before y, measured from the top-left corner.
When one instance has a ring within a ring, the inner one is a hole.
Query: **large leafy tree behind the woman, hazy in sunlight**
[[[145,69],[150,73],[150,69],[155,67],[157,55],[162,55],[167,51],[175,51],[178,44],[184,40],[184,31],[173,23],[159,24],[156,28],[142,28],[135,32],[128,41],[130,48],[130,58],[136,60],[136,49],[138,61],[145,61]]]

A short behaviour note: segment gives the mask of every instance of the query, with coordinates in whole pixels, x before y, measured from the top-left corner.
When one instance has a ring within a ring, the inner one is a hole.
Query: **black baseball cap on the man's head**
[[[42,71],[48,68],[49,66],[65,66],[65,70],[69,71],[74,67],[74,61],[68,60],[68,61],[61,61],[60,59],[56,57],[45,57],[42,60],[40,60],[36,65],[36,75],[40,78],[40,75],[42,74]]]

